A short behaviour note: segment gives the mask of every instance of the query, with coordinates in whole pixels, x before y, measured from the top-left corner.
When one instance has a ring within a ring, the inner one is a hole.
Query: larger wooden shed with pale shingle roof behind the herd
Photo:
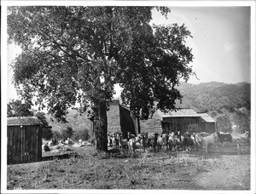
[[[168,112],[155,111],[152,117],[161,123],[162,132],[200,132],[201,117],[192,109],[178,109]]]

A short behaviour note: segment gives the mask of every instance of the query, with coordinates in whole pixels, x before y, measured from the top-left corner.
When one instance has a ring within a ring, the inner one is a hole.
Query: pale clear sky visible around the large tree
[[[192,66],[195,76],[188,83],[241,83],[251,82],[250,7],[171,7],[167,20],[153,12],[152,24],[185,25],[193,38],[187,39],[192,48]],[[8,63],[20,49],[8,46]],[[8,98],[16,98],[11,84],[12,71],[8,68]],[[115,86],[117,94],[120,88]]]

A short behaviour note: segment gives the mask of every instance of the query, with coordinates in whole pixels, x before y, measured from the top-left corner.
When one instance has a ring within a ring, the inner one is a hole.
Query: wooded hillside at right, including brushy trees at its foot
[[[207,112],[224,132],[250,130],[251,84],[250,83],[181,83],[177,89],[183,95],[177,107]]]

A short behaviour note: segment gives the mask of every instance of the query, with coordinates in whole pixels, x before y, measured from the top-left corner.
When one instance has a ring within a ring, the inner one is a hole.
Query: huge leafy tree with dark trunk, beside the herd
[[[13,64],[24,100],[47,106],[59,121],[79,102],[90,106],[96,148],[108,151],[107,109],[113,84],[131,111],[147,118],[157,102],[174,107],[174,88],[189,79],[193,55],[185,26],[150,26],[153,7],[9,7],[9,43],[23,52]]]

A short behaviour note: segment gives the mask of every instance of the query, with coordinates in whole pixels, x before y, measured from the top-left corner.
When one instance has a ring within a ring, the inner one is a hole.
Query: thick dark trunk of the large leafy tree
[[[93,111],[94,117],[94,130],[96,137],[96,149],[97,151],[108,151],[108,119],[106,102],[95,102]]]

